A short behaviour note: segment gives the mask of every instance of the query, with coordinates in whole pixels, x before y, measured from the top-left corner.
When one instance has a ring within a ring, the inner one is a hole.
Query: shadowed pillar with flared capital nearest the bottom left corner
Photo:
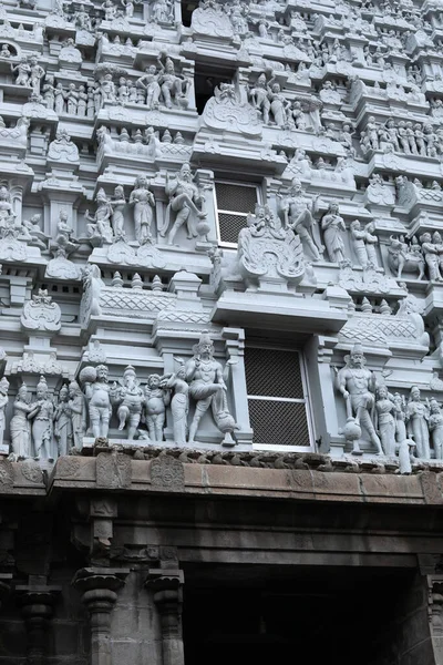
[[[29,585],[17,586],[16,591],[27,626],[27,663],[43,665],[47,662],[49,622],[61,587],[31,582]]]

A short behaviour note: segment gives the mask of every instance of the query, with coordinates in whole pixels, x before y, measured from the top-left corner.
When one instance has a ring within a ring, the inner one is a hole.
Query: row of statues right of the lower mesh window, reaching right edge
[[[429,460],[433,452],[435,459],[442,460],[443,413],[439,402],[423,401],[416,386],[411,388],[408,401],[399,392],[391,395],[365,367],[360,344],[344,360],[336,380],[346,401],[343,434],[352,443],[352,452],[360,454],[362,440],[369,440],[378,454],[399,454],[402,472],[411,471],[410,453]]]

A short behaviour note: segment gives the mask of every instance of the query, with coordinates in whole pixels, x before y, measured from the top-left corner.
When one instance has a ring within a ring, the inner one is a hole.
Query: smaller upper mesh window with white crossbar
[[[218,239],[222,245],[236,246],[246,218],[259,203],[257,185],[243,183],[215,183]]]

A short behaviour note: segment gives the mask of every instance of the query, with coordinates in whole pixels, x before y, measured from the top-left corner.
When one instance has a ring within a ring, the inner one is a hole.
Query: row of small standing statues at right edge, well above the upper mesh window
[[[360,134],[360,144],[363,153],[384,149],[387,152],[436,157],[443,154],[443,127],[434,130],[430,123],[423,125],[392,117],[381,124],[371,115]]]

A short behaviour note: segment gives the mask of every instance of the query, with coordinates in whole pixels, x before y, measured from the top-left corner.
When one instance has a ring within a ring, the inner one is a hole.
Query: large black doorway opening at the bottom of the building
[[[402,663],[394,635],[413,571],[228,569],[185,575],[186,665]],[[427,636],[424,607],[422,620]]]

